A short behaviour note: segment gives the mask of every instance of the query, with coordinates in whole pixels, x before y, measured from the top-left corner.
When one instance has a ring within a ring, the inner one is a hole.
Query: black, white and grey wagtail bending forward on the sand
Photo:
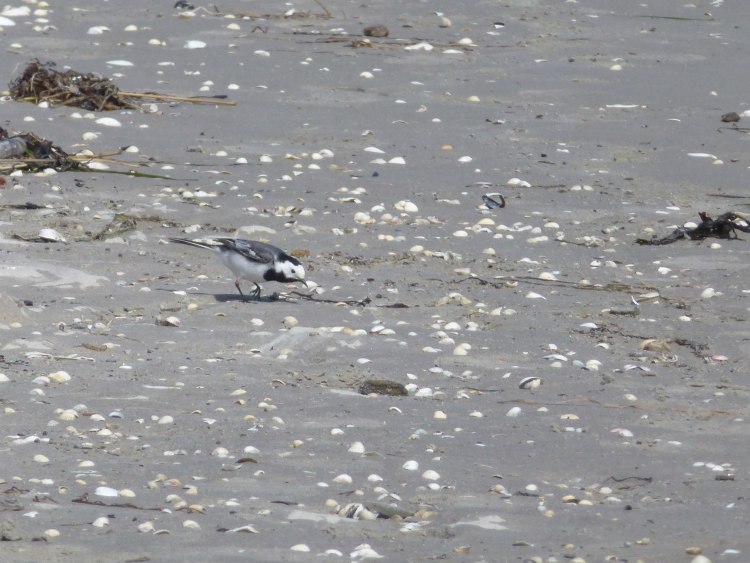
[[[305,268],[300,261],[270,244],[239,238],[208,239],[211,242],[198,242],[186,238],[170,238],[169,240],[217,252],[224,265],[232,270],[235,276],[234,285],[243,298],[245,294],[240,288],[241,279],[255,284],[255,291],[250,295],[256,298],[260,297],[258,282],[301,282],[307,287],[304,279]]]

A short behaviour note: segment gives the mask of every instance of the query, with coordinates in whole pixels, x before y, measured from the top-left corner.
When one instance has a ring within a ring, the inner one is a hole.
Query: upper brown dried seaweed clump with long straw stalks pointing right
[[[8,86],[14,100],[47,102],[53,106],[74,106],[89,111],[118,109],[139,109],[135,99],[190,102],[199,104],[236,105],[235,102],[220,100],[224,96],[194,98],[171,96],[156,92],[123,92],[109,78],[94,73],[76,70],[58,71],[54,62],[41,63],[34,59],[20,76]]]

